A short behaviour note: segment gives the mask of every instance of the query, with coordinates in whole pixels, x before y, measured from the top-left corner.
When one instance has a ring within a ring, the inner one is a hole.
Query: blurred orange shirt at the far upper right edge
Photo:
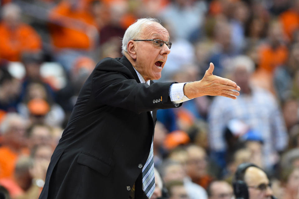
[[[292,38],[293,32],[299,28],[299,13],[288,10],[282,12],[279,18],[284,32],[289,38]]]

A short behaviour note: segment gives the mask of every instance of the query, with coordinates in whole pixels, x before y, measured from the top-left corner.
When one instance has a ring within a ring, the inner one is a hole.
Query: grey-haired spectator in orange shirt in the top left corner
[[[21,22],[21,8],[8,3],[2,7],[0,57],[20,61],[21,54],[41,49],[41,39],[29,25]]]

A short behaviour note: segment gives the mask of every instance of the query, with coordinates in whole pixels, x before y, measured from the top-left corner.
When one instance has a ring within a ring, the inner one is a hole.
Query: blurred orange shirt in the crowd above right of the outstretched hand
[[[271,48],[271,46],[264,45],[260,47],[259,55],[259,68],[272,73],[277,66],[285,64],[288,57],[288,50],[284,45],[281,45],[276,49]]]

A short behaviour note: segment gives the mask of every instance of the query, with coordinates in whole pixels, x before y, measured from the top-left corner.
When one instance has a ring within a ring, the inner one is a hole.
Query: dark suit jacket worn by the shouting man
[[[128,199],[135,182],[139,198],[146,198],[140,164],[150,153],[156,110],[175,107],[171,84],[140,83],[125,56],[100,61],[51,157],[40,199]]]

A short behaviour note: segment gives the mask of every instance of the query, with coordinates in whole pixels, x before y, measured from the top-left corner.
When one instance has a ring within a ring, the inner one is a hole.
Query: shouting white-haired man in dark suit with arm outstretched
[[[198,82],[150,81],[161,77],[170,47],[168,31],[155,19],[126,30],[124,56],[100,61],[84,83],[40,199],[150,198],[156,110],[206,94],[239,95],[236,83],[212,75],[213,64]]]

